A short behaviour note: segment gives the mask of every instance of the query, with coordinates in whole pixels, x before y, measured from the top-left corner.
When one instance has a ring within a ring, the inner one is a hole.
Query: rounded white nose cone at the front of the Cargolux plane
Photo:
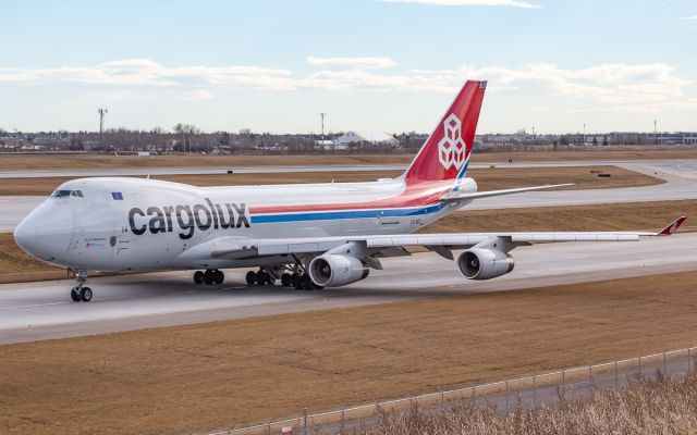
[[[52,261],[70,247],[73,226],[70,206],[48,200],[14,228],[14,241],[27,253]]]

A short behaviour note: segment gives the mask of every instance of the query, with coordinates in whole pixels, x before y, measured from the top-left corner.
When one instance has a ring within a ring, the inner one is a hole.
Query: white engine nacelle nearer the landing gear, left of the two
[[[370,269],[352,256],[325,253],[309,263],[309,277],[322,287],[341,287],[368,276]]]

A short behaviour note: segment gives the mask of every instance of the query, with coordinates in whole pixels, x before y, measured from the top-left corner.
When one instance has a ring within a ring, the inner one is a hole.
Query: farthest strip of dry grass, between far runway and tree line
[[[0,171],[60,169],[132,169],[191,166],[264,166],[315,164],[408,163],[409,153],[394,154],[310,154],[310,156],[101,156],[101,154],[3,154]],[[611,147],[583,148],[574,151],[477,153],[474,162],[553,161],[553,160],[637,160],[695,159],[697,149],[685,147]]]

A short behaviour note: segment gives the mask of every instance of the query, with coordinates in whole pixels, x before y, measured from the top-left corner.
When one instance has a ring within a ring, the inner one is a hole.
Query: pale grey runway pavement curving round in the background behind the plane
[[[484,198],[474,201],[461,209],[468,210],[498,210],[524,207],[552,207],[552,206],[584,206],[597,203],[643,202],[643,201],[669,201],[697,199],[697,160],[662,160],[662,161],[561,161],[561,162],[529,162],[504,163],[498,167],[550,167],[550,166],[595,166],[599,164],[625,167],[646,175],[659,177],[664,184],[644,187],[625,187],[611,189],[579,189],[557,191],[531,191],[513,196]],[[351,165],[341,166],[346,171],[375,171],[376,169],[404,167],[400,165]],[[473,164],[472,167],[488,167],[488,164]],[[327,167],[317,166],[259,166],[247,167],[249,171],[268,171],[280,169],[281,172],[325,171]],[[167,169],[164,169],[167,170]],[[196,169],[182,169],[193,170]],[[204,169],[206,170],[206,169]],[[211,170],[211,169],[208,169]],[[134,170],[142,171],[142,170]],[[203,170],[199,170],[203,171]],[[212,170],[211,170],[212,171]],[[59,171],[61,172],[61,171]],[[64,173],[64,172],[61,172]],[[7,172],[1,173],[7,174]],[[0,175],[1,175],[0,174]],[[80,172],[80,176],[86,176]],[[98,172],[106,174],[106,172]],[[50,175],[46,175],[50,176]],[[33,196],[4,196],[0,197],[0,232],[12,232],[20,221],[26,216],[36,206],[44,201],[45,197]]]

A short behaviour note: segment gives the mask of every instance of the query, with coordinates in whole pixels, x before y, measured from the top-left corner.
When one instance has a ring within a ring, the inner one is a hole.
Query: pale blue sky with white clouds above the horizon
[[[697,130],[696,0],[0,0],[0,128]]]

